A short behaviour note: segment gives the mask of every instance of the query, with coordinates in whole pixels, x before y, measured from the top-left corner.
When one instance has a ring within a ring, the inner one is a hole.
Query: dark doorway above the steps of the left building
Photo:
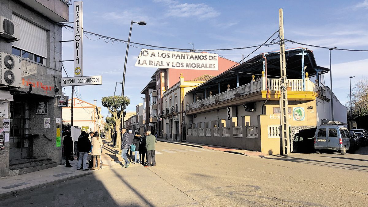
[[[10,102],[10,160],[31,157],[29,108],[26,102]]]

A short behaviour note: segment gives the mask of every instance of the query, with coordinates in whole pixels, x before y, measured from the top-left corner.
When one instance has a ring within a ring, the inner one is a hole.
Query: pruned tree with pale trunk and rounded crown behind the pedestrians
[[[127,96],[109,96],[109,97],[102,97],[101,99],[102,105],[109,109],[113,120],[115,121],[115,130],[118,132],[116,136],[116,145],[115,147],[119,148],[119,154],[121,152],[120,145],[121,145],[121,136],[120,136],[120,124],[122,115],[124,113],[119,113],[121,108],[124,109],[130,104],[130,99]],[[106,120],[107,121],[107,120]]]

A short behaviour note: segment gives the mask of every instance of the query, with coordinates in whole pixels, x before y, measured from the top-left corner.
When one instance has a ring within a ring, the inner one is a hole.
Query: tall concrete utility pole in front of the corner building
[[[282,8],[279,9],[279,32],[280,32],[280,145],[282,155],[290,154],[289,138],[289,110],[287,104],[287,79],[284,42],[284,17]]]

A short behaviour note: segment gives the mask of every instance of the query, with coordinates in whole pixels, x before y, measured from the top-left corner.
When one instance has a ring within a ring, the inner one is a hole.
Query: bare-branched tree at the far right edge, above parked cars
[[[351,89],[351,102],[354,117],[368,115],[368,78],[358,80]]]

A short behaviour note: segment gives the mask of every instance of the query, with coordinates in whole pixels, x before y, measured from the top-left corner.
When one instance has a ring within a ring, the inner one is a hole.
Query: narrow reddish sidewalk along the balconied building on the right
[[[229,153],[234,153],[234,154],[241,154],[241,155],[245,155],[245,156],[248,156],[248,157],[254,157],[254,158],[257,158],[257,157],[262,157],[262,158],[270,157],[270,155],[264,154],[262,152],[250,151],[250,150],[241,150],[241,149],[238,149],[238,148],[220,147],[220,146],[206,145],[206,144],[197,144],[197,143],[191,143],[191,142],[186,142],[186,141],[166,140],[166,139],[163,139],[163,138],[157,138],[157,141],[163,141],[163,142],[173,143],[173,144],[187,145],[187,146],[191,146],[191,147],[199,147],[199,148],[218,150],[218,151],[229,152]]]

